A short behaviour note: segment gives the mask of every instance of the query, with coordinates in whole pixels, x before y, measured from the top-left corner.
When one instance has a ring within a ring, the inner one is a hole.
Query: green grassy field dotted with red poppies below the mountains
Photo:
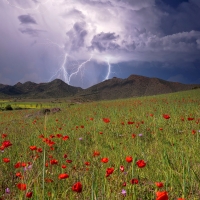
[[[200,199],[199,89],[48,106],[0,112],[1,200]]]

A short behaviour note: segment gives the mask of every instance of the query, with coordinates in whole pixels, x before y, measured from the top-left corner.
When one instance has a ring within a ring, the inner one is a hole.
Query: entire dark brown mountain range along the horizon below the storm
[[[121,79],[113,77],[87,89],[74,87],[60,79],[48,83],[25,82],[10,86],[0,84],[0,98],[83,98],[87,100],[111,100],[139,96],[172,93],[200,88],[200,84],[182,84],[159,78],[130,75]]]

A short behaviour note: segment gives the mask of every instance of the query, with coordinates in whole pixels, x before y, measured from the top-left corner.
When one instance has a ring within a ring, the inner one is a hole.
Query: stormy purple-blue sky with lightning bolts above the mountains
[[[200,83],[200,0],[1,0],[0,83]]]

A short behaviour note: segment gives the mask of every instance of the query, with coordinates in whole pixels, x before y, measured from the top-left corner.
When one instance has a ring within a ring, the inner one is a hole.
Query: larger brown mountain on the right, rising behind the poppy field
[[[200,84],[187,85],[158,78],[131,75],[127,79],[106,80],[83,90],[79,95],[92,100],[110,100],[184,91],[196,86],[200,86]]]

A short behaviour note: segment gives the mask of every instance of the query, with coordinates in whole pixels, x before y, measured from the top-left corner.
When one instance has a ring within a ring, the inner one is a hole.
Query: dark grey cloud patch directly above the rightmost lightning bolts
[[[116,50],[119,49],[120,46],[116,43],[116,40],[119,38],[119,35],[115,33],[104,33],[101,32],[95,35],[91,41],[90,49],[97,49],[98,51],[106,51],[106,50]]]

